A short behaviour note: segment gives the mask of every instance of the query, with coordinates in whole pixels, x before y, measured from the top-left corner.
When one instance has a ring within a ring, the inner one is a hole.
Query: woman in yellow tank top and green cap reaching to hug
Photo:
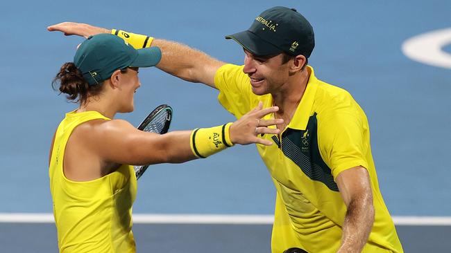
[[[260,104],[240,120],[196,131],[139,131],[117,113],[133,111],[138,68],[158,64],[159,48],[135,50],[114,35],[94,35],[64,64],[53,85],[79,102],[52,141],[49,177],[60,252],[135,252],[131,208],[137,192],[131,165],[186,162],[233,144],[270,145],[258,134],[282,120],[263,120],[277,107]]]

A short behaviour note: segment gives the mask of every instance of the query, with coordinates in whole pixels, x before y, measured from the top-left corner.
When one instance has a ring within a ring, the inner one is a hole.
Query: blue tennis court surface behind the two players
[[[406,252],[421,252],[417,251],[421,236],[443,238],[439,240],[443,247],[437,249],[450,249],[451,243],[443,236],[450,234],[451,226],[451,35],[446,33],[451,28],[451,1],[282,0],[277,5],[296,8],[309,19],[316,35],[309,64],[316,76],[346,88],[366,112],[386,205],[400,221],[414,217],[398,230]],[[51,214],[51,137],[64,113],[76,107],[52,90],[51,80],[63,63],[72,61],[83,39],[47,32],[47,26],[76,21],[121,28],[180,41],[223,61],[241,64],[241,48],[224,35],[248,28],[253,18],[273,3],[81,0],[6,1],[0,6],[0,106],[4,113],[0,126],[0,213],[9,217],[17,213]],[[439,37],[429,37],[423,44],[417,41],[410,51],[403,50],[409,39],[434,31],[443,31],[441,42],[435,45],[440,56],[423,61],[405,54],[435,52],[429,46]],[[434,64],[435,59],[441,59],[441,64]],[[119,118],[137,125],[155,106],[170,104],[174,110],[171,130],[234,120],[210,87],[184,82],[156,68],[142,70],[139,75],[142,86],[135,95],[135,112]],[[270,217],[274,200],[273,182],[250,145],[205,160],[149,167],[139,180],[133,212]],[[418,224],[421,217],[432,217],[434,222]],[[216,252],[269,252],[271,225],[265,219],[250,225],[214,221],[199,225],[196,221],[185,225],[138,223],[134,232],[139,250],[201,252],[198,246],[210,243]],[[22,250],[17,252],[58,250],[56,231],[48,220],[6,219],[1,221],[0,230],[1,234],[17,231],[15,236],[22,236],[21,243],[8,239],[13,233],[4,237],[1,245],[11,249],[8,252],[19,248]],[[45,232],[40,235],[41,230]],[[240,232],[250,237],[237,236]],[[190,233],[192,237],[186,235]],[[201,236],[194,236],[198,233]],[[223,244],[221,236],[229,241]],[[31,243],[37,238],[42,248]],[[240,238],[249,242],[255,238],[252,242],[258,246],[239,247],[246,245]],[[27,247],[25,241],[37,250]]]

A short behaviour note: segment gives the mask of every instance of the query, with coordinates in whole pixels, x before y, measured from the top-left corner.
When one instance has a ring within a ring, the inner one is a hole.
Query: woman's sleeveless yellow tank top
[[[133,166],[122,165],[85,182],[67,179],[62,170],[72,131],[95,119],[110,120],[96,111],[71,112],[56,131],[49,178],[58,247],[60,252],[135,252],[131,228],[137,180]]]

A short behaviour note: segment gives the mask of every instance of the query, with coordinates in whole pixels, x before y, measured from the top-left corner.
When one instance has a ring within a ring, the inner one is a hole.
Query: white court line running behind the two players
[[[451,225],[451,216],[392,216],[395,225]],[[133,223],[271,225],[272,215],[133,214]],[[0,223],[53,223],[53,214],[0,213]]]

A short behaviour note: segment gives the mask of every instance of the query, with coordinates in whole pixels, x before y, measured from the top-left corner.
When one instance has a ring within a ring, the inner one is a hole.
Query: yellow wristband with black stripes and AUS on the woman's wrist
[[[206,158],[214,153],[232,147],[230,140],[230,126],[223,124],[208,129],[194,129],[191,133],[191,150],[198,158]]]

